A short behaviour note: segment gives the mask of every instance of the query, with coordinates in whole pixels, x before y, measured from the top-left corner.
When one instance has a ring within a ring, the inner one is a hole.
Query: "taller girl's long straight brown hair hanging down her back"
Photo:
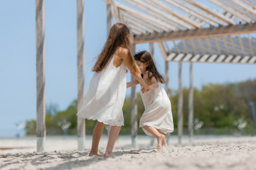
[[[115,23],[110,28],[110,34],[105,42],[102,52],[97,57],[95,65],[92,67],[92,72],[100,72],[110,61],[112,55],[117,50],[117,47],[123,47],[130,51],[130,33],[129,28],[123,23]]]

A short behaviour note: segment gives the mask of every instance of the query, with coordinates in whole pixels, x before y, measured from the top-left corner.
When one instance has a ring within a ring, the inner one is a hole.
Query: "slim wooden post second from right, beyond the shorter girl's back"
[[[178,62],[178,143],[181,144],[183,133],[183,92],[182,92],[182,68]]]

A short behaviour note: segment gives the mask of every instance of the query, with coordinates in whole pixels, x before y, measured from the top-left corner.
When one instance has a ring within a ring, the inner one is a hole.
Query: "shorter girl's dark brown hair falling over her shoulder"
[[[155,77],[156,81],[161,82],[161,84],[165,84],[164,77],[159,74],[158,70],[156,69],[156,64],[154,63],[154,60],[149,52],[137,52],[134,55],[134,60],[148,64],[148,67],[146,67],[146,71],[149,72],[149,81],[152,79],[152,77]]]

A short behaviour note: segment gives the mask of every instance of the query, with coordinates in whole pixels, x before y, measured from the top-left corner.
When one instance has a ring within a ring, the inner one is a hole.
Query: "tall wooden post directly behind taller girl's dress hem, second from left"
[[[77,26],[78,26],[78,111],[85,96],[85,50],[84,50],[84,1],[77,0]],[[78,117],[78,150],[85,149],[85,119]]]

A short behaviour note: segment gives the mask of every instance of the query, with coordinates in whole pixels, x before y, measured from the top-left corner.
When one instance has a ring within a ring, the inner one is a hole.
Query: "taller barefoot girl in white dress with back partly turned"
[[[102,52],[92,67],[95,74],[90,81],[78,116],[97,120],[92,134],[92,149],[89,156],[102,156],[98,151],[100,137],[105,125],[111,125],[109,140],[104,157],[111,157],[114,142],[121,126],[124,125],[122,106],[126,93],[126,67],[145,90],[149,89],[130,53],[129,28],[122,23],[115,23]]]

